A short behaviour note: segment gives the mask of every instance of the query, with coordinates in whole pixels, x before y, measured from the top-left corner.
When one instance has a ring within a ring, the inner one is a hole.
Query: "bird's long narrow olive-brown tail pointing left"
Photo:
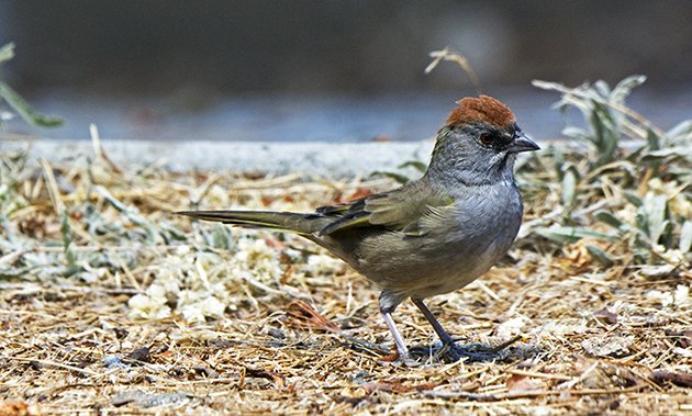
[[[328,218],[320,214],[298,214],[293,212],[180,211],[176,214],[204,221],[216,221],[246,228],[274,228],[302,235],[317,233],[330,223]]]

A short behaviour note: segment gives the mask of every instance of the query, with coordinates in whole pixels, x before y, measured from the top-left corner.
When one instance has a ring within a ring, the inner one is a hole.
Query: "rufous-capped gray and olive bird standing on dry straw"
[[[381,290],[379,310],[398,360],[412,355],[392,317],[411,300],[458,360],[456,345],[424,300],[459,290],[506,255],[522,224],[514,161],[539,146],[507,105],[489,95],[456,102],[437,132],[423,176],[398,189],[312,213],[181,211],[192,218],[294,233],[326,248]],[[415,361],[415,360],[413,360]]]

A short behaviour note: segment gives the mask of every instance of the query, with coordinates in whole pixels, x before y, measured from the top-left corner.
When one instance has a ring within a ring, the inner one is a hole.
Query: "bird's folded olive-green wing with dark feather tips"
[[[317,213],[334,217],[334,222],[320,234],[331,235],[346,229],[381,226],[389,231],[404,232],[411,237],[422,236],[426,233],[424,218],[438,215],[440,210],[453,206],[453,203],[450,196],[413,182],[394,191],[317,209]]]

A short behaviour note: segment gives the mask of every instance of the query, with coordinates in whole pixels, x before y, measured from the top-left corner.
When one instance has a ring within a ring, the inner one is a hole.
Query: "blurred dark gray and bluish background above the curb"
[[[418,140],[454,101],[482,92],[523,130],[559,136],[557,94],[643,74],[633,106],[662,127],[692,116],[692,1],[2,0],[0,78],[66,124],[52,138]]]

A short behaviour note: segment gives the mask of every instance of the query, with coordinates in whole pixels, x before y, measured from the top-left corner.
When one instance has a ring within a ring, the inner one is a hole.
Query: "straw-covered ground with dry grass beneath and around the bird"
[[[308,210],[392,182],[176,175],[97,153],[2,155],[0,414],[692,412],[687,263],[647,268],[625,240],[527,231],[482,280],[429,301],[462,342],[522,339],[495,362],[402,368],[382,362],[391,340],[364,278],[299,238],[171,215],[200,201]],[[528,224],[559,204],[526,195]],[[412,304],[395,319],[410,345],[435,341]]]

